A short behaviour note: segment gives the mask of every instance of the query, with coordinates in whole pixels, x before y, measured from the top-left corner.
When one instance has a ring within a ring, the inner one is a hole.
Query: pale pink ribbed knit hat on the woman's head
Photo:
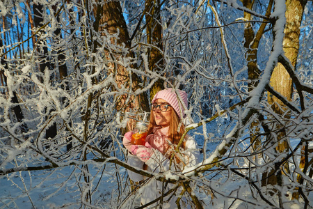
[[[179,92],[180,97],[182,100],[179,99],[178,95],[175,93],[175,90],[172,88],[167,88],[164,90],[159,91],[154,95],[154,98],[152,100],[152,103],[155,102],[157,99],[163,99],[172,106],[172,108],[175,109],[177,115],[179,118],[184,118],[184,107],[182,105],[182,102],[186,105],[186,108],[188,108],[188,98],[187,98],[187,93],[182,90],[176,90]]]

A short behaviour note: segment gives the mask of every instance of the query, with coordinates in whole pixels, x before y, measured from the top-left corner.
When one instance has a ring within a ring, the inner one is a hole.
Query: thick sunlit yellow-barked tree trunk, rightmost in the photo
[[[303,17],[304,6],[305,2],[301,0],[286,1],[286,25],[284,28],[284,40],[282,45],[285,56],[287,56],[287,59],[289,59],[294,67],[296,66],[296,59],[298,56],[300,24]],[[270,84],[273,89],[280,93],[284,98],[291,100],[292,80],[282,64],[278,63],[278,65],[274,68]],[[280,115],[285,114],[287,108],[284,107],[282,101],[275,98],[275,96],[271,95],[271,93],[268,93],[268,103],[271,104],[275,113]],[[285,117],[288,116],[286,115]],[[279,125],[277,128],[280,130]],[[277,135],[277,140],[280,141],[280,143],[276,147],[276,150],[279,153],[288,151],[287,141],[281,140],[284,137],[284,132],[279,132]],[[286,169],[287,172],[289,171],[287,164],[284,164],[282,169]],[[264,173],[263,179],[265,178],[268,178],[268,183],[277,183],[278,181],[276,175],[268,176]],[[271,180],[271,178],[273,178],[273,180]]]

